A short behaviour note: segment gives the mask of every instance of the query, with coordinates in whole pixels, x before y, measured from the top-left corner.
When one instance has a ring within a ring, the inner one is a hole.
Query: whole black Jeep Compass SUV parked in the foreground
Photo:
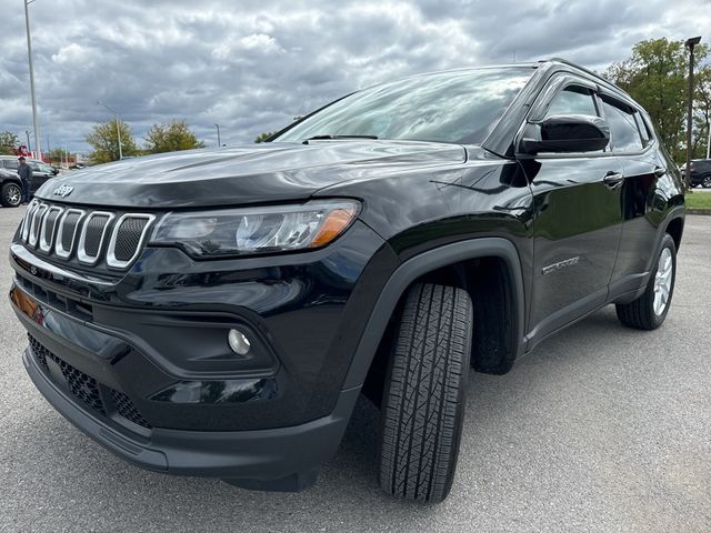
[[[14,235],[32,381],[132,463],[301,489],[365,392],[382,487],[441,501],[470,366],[609,303],[640,329],[669,311],[679,172],[584,69],[417,76],[269,141],[78,171]]]

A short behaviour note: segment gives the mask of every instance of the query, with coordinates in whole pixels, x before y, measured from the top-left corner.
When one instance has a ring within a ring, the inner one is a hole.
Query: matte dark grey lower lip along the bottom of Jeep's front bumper
[[[48,378],[31,350],[26,350],[23,362],[38,390],[67,420],[114,454],[152,471],[248,480],[238,482],[248,486],[292,481],[299,487],[298,476],[318,470],[336,453],[360,391],[342,392],[330,415],[292,428],[232,432],[153,428],[149,436],[140,436],[90,414]]]

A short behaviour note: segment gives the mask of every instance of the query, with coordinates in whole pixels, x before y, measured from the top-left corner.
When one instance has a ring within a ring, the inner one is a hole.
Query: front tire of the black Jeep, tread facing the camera
[[[385,375],[380,486],[437,503],[454,480],[469,375],[472,303],[467,291],[417,284],[407,295]]]

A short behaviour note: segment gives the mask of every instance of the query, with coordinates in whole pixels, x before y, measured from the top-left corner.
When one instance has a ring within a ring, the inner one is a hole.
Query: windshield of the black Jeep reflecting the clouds
[[[356,92],[276,141],[319,135],[481,143],[529,80],[530,67],[418,76]]]

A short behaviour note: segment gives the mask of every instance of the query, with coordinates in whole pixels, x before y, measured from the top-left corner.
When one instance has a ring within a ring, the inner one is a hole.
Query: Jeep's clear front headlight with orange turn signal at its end
[[[353,222],[354,200],[300,205],[169,213],[151,244],[174,245],[196,257],[274,253],[321,248]]]

